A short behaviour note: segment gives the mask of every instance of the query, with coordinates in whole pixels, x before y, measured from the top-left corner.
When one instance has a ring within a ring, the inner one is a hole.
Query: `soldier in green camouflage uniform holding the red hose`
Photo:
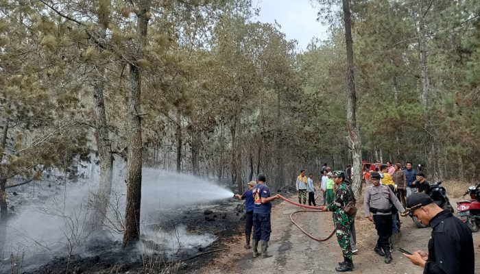
[[[328,206],[322,206],[322,210],[333,212],[333,223],[335,224],[338,244],[344,255],[344,262],[340,262],[335,270],[337,272],[353,271],[352,248],[350,247],[350,226],[353,216],[348,216],[344,207],[349,201],[355,201],[355,197],[344,182],[345,173],[343,171],[334,171],[334,173],[337,175],[335,178],[335,185],[337,186],[335,199]]]

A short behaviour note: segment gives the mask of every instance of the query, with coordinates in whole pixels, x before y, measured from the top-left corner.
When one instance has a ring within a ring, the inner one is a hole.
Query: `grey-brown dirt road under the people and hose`
[[[272,210],[272,236],[269,242],[269,253],[272,258],[252,258],[252,249],[244,249],[243,236],[229,239],[230,249],[221,253],[215,260],[199,273],[336,273],[335,266],[343,260],[341,249],[333,236],[326,242],[315,242],[298,229],[289,219],[291,212],[300,210],[297,206],[282,201]],[[331,212],[302,212],[295,215],[296,221],[311,234],[324,238],[333,229]],[[418,229],[409,217],[401,218],[402,231],[400,247],[409,251],[427,250],[431,229]],[[365,219],[357,219],[357,248],[359,254],[353,257],[355,273],[422,273],[422,269],[414,266],[394,251],[392,264],[385,264],[383,257],[376,255],[372,249],[376,242],[374,225]],[[475,257],[480,260],[480,232],[473,234]],[[480,264],[476,264],[476,273],[480,273]]]

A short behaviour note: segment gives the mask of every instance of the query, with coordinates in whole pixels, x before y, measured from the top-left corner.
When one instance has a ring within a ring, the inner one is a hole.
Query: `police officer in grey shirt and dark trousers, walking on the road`
[[[363,200],[365,218],[375,223],[376,233],[379,235],[374,251],[380,256],[385,256],[385,264],[389,264],[392,262],[389,245],[389,238],[392,236],[392,206],[390,203],[400,212],[405,212],[405,209],[394,192],[388,186],[380,184],[378,172],[370,174],[370,181],[372,181],[372,185],[365,189]],[[372,202],[371,205],[370,202]]]

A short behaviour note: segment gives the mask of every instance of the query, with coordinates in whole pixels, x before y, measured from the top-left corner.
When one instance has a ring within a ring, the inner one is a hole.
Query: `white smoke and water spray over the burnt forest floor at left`
[[[85,255],[84,244],[93,236],[93,232],[88,231],[92,211],[88,204],[93,199],[92,194],[97,190],[99,181],[95,170],[89,175],[89,179],[81,182],[58,182],[51,188],[47,188],[45,182],[36,182],[35,195],[30,189],[35,187],[32,185],[11,197],[10,204],[14,204],[16,210],[8,221],[3,257],[13,254],[23,257],[25,264],[29,264],[29,260],[43,264],[52,256],[68,256],[69,253]],[[112,242],[121,241],[122,238],[121,231],[116,230],[121,230],[125,211],[125,167],[117,166],[114,177],[109,222],[105,228],[108,233],[104,234]],[[232,195],[230,190],[206,179],[159,169],[143,169],[142,238],[162,247],[167,255],[178,253],[179,249],[207,247],[216,240],[215,236],[208,233],[192,234],[181,225],[173,225],[172,229],[171,220],[165,219],[162,212],[176,208],[181,212],[180,208],[221,201]],[[163,229],[164,224],[168,229]],[[139,252],[149,252],[150,248],[150,245],[142,243],[137,246]],[[88,251],[88,255],[95,254]]]

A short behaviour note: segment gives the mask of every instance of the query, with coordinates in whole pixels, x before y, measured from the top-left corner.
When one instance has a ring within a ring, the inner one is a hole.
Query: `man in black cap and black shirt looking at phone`
[[[421,192],[407,199],[405,214],[416,216],[432,228],[429,253],[418,250],[412,255],[403,254],[413,264],[422,266],[424,274],[475,273],[472,232],[464,222]]]

